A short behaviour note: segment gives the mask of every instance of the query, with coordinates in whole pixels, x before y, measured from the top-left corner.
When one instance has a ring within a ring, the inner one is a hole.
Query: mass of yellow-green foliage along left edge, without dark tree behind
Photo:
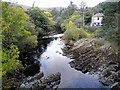
[[[24,10],[11,3],[2,2],[2,75],[20,66],[19,53],[37,45],[35,26],[28,25]],[[30,23],[29,23],[30,24]],[[32,40],[32,41],[31,41]],[[27,46],[28,45],[28,46]]]

